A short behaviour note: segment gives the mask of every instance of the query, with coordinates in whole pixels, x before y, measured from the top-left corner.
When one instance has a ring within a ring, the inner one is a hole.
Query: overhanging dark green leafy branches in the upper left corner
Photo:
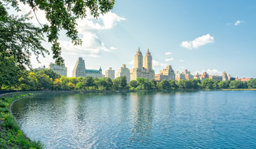
[[[74,45],[81,45],[82,41],[78,37],[76,20],[86,18],[86,12],[90,11],[92,16],[99,17],[114,7],[114,0],[19,0],[23,4],[31,7],[36,15],[37,10],[46,13],[49,22],[39,22],[41,27],[34,27],[29,14],[21,17],[10,16],[7,12],[7,4],[11,4],[16,11],[19,9],[17,0],[0,1],[0,48],[4,56],[14,56],[21,65],[30,66],[29,56],[44,56],[49,51],[42,47],[44,35],[52,44],[51,50],[53,58],[57,64],[64,62],[61,57],[61,47],[59,45],[59,32],[66,30],[66,36],[71,38]]]

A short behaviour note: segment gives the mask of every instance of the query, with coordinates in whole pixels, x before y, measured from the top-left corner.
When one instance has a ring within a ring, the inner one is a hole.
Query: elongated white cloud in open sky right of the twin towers
[[[184,41],[180,44],[180,46],[192,50],[192,48],[198,48],[207,43],[214,43],[214,37],[210,36],[210,34],[197,37],[193,41]]]

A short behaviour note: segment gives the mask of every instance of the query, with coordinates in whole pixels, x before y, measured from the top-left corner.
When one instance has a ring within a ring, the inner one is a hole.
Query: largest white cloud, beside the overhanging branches
[[[116,50],[116,47],[107,48],[104,42],[101,41],[97,34],[101,30],[112,29],[117,22],[124,20],[124,17],[119,17],[113,12],[107,12],[104,16],[100,15],[99,19],[95,19],[89,12],[84,20],[77,20],[77,30],[82,35],[82,45],[74,46],[71,41],[61,40],[61,47],[64,53],[74,55],[85,55],[91,57],[101,56],[101,52],[111,52]]]

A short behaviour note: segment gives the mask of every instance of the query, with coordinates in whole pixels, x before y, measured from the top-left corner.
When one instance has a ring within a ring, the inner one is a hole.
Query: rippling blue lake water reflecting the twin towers
[[[256,91],[41,95],[12,114],[46,148],[256,148]]]

